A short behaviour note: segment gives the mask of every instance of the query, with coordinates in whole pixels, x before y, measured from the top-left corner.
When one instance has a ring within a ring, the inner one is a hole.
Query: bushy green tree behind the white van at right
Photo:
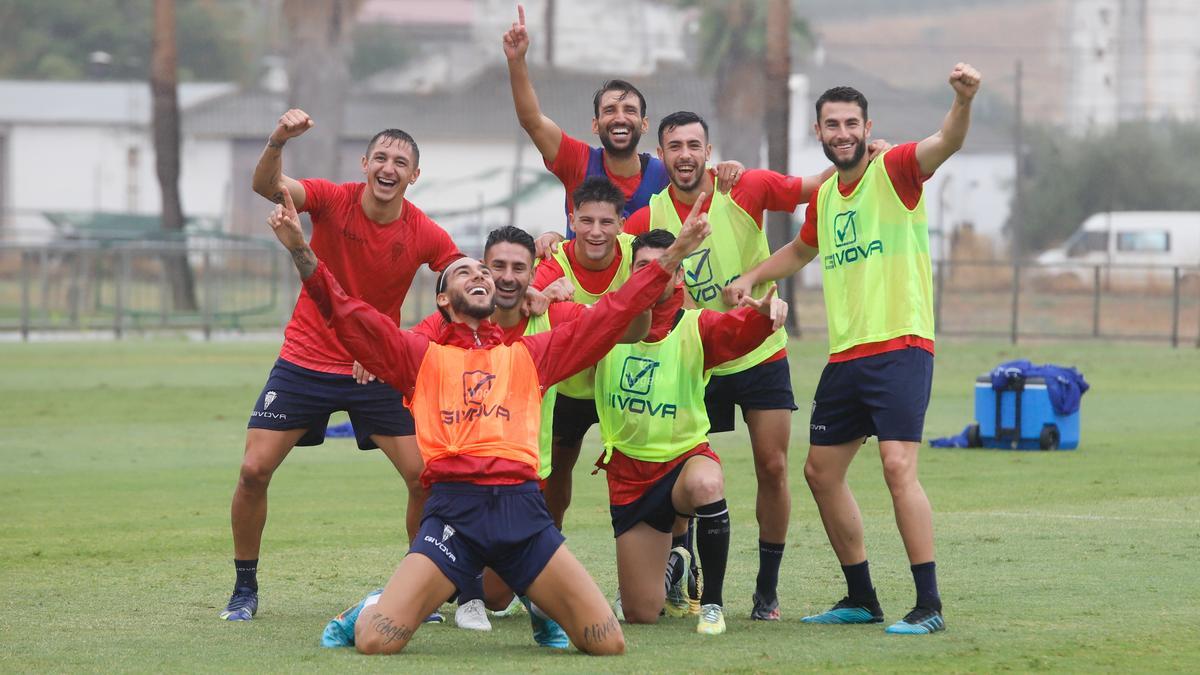
[[[1200,210],[1198,124],[1128,123],[1084,138],[1038,129],[1027,143],[1020,223],[1027,253],[1063,240],[1096,213]]]

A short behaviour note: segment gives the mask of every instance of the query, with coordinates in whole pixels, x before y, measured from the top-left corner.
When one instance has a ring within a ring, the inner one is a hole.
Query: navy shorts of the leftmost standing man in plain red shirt
[[[342,410],[350,413],[354,437],[364,450],[378,447],[371,441],[373,434],[416,432],[403,398],[388,384],[378,380],[359,384],[353,376],[308,370],[283,359],[275,362],[246,426],[272,431],[307,429],[296,444],[319,446],[325,441],[329,416]]]

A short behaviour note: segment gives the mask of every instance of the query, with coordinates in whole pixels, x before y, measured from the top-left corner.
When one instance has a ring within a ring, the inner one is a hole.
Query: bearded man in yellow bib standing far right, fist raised
[[[922,185],[962,147],[979,71],[958,64],[954,102],[942,129],[919,143],[865,156],[871,119],[850,86],[817,98],[815,126],[838,174],[809,202],[799,235],[727,289],[730,300],[755,283],[782,279],[820,256],[829,323],[829,363],[821,374],[804,465],[848,592],[810,623],[883,621],[863,543],[863,519],[846,470],[868,436],[880,441],[883,478],[917,586],[916,607],[888,633],[942,631],[934,562],[932,512],[917,479],[917,450],[934,378],[932,265]]]

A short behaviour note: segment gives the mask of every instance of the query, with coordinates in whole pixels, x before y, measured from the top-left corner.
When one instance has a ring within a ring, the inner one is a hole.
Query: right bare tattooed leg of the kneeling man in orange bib
[[[566,631],[580,651],[594,656],[625,653],[625,635],[608,601],[565,545],[554,551],[527,593]]]

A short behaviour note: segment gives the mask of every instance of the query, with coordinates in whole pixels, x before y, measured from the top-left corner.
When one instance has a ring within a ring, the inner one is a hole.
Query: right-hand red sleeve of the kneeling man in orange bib
[[[551,387],[595,365],[617,345],[629,322],[659,299],[671,279],[672,275],[660,265],[646,265],[635,271],[620,289],[605,294],[581,312],[577,321],[556,325],[548,333],[522,338],[538,366],[541,386]]]

